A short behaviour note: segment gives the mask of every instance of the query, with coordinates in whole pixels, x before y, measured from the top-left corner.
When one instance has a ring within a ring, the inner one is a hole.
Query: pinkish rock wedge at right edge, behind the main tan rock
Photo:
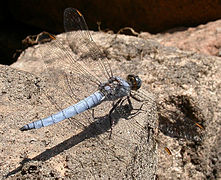
[[[182,50],[201,54],[221,56],[221,20],[197,27],[173,29],[166,33],[150,35],[141,33],[142,38],[152,38],[164,46],[174,46]]]

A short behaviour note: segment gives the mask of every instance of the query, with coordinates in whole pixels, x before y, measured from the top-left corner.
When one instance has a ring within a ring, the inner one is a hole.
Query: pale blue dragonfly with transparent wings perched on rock
[[[112,127],[114,125],[114,120],[112,119],[111,114],[116,109],[116,107],[120,105],[125,99],[127,99],[131,105],[130,97],[138,100],[135,96],[132,95],[132,93],[137,92],[141,87],[141,79],[137,75],[133,74],[128,75],[126,80],[113,75],[107,58],[102,56],[101,50],[95,44],[90,35],[90,32],[88,31],[88,27],[83,15],[78,10],[74,8],[65,9],[64,28],[67,33],[72,33],[74,37],[83,39],[82,44],[79,43],[78,48],[82,49],[83,51],[86,48],[88,49],[90,56],[92,59],[94,59],[93,67],[95,69],[89,71],[88,68],[86,68],[86,63],[81,62],[83,59],[82,57],[79,59],[74,58],[70,51],[68,51],[63,46],[62,42],[49,33],[47,35],[51,39],[52,43],[48,49],[48,52],[52,55],[53,53],[58,54],[58,52],[60,53],[58,56],[64,55],[65,63],[67,66],[71,66],[72,69],[74,69],[75,74],[84,79],[86,83],[94,84],[94,86],[97,88],[97,91],[82,100],[79,99],[79,102],[76,104],[71,105],[55,114],[24,125],[20,128],[21,131],[38,129],[58,123],[62,120],[71,118],[77,114],[94,108],[104,101],[113,102],[113,107],[108,115]],[[40,37],[38,39],[39,42],[43,40],[44,37]],[[76,99],[78,99],[78,97],[76,97]]]

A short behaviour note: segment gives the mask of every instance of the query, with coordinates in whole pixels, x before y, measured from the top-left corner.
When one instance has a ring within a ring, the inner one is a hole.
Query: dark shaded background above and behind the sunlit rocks
[[[176,27],[193,27],[221,18],[218,0],[9,0],[0,7],[0,64],[16,61],[22,40],[42,31],[63,32],[63,11],[79,9],[89,29],[119,29],[129,26],[135,31],[165,32]]]

